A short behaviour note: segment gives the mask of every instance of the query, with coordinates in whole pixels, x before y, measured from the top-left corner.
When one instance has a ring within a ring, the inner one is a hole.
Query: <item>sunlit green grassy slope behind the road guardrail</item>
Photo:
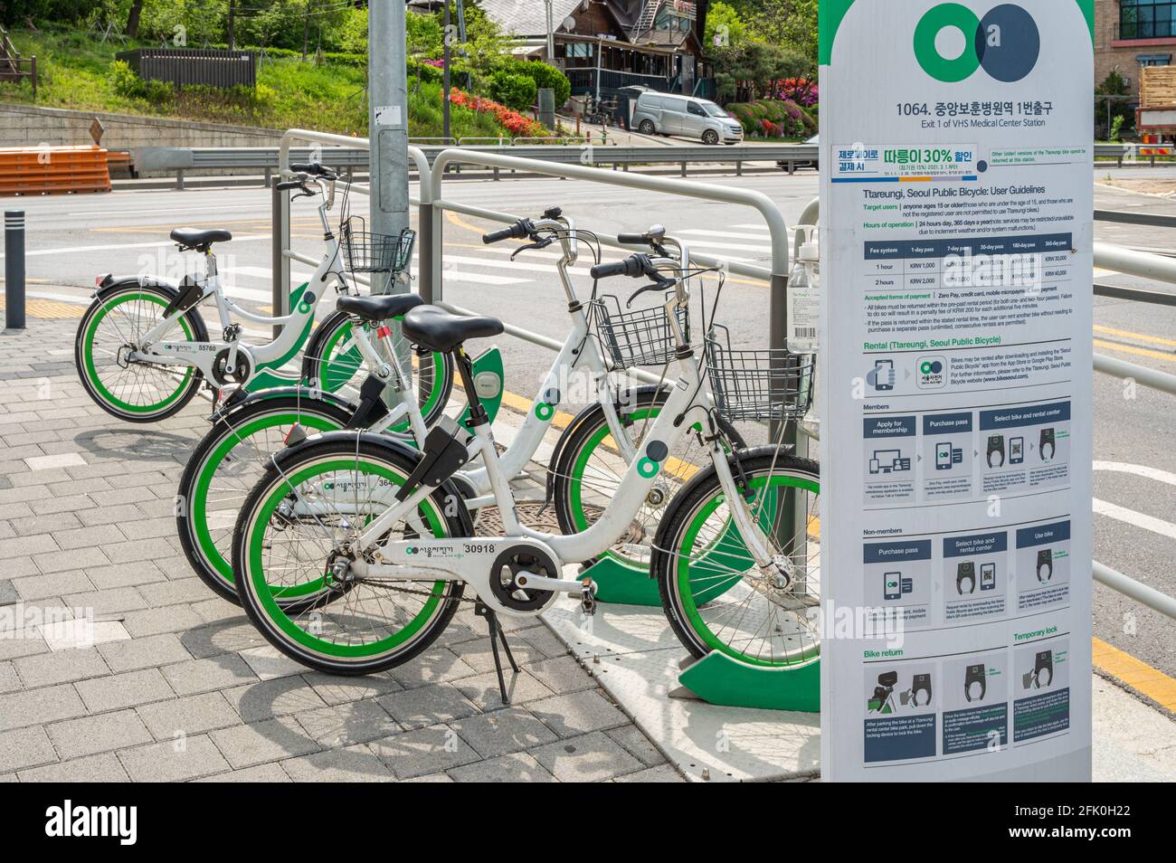
[[[348,135],[367,134],[366,72],[349,66],[315,66],[298,59],[266,60],[255,93],[226,94],[206,88],[175,93],[166,101],[120,95],[109,75],[115,53],[133,45],[101,45],[75,32],[13,32],[25,56],[35,55],[40,69],[36,105],[116,114],[174,116],[187,120],[310,127]],[[412,136],[441,134],[441,87],[408,82]],[[32,103],[27,83],[0,83],[0,101]],[[453,107],[453,135],[497,136],[503,129],[487,114]],[[507,135],[509,136],[509,135]]]

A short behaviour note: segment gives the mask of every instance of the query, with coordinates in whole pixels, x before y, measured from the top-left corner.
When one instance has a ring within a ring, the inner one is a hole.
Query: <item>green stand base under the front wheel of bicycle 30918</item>
[[[800,665],[764,668],[711,650],[686,668],[677,682],[708,704],[821,713],[820,657]],[[686,695],[670,693],[670,697]]]

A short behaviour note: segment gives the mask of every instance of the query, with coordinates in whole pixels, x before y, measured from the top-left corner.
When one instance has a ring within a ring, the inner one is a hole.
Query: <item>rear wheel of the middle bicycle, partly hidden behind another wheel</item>
[[[214,593],[238,602],[232,564],[236,516],[294,423],[310,434],[332,432],[350,415],[321,399],[261,397],[219,417],[196,444],[180,477],[175,523],[188,563]]]

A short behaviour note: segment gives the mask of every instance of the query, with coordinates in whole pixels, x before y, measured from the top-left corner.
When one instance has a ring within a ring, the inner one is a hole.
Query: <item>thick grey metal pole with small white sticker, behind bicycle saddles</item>
[[[403,2],[368,5],[368,136],[372,196],[368,230],[399,236],[408,227],[408,67]],[[373,293],[407,293],[402,281]]]

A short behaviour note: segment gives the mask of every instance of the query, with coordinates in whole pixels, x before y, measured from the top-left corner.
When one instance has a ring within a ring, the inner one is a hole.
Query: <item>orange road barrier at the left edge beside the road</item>
[[[109,190],[109,153],[101,147],[0,147],[0,195]]]

